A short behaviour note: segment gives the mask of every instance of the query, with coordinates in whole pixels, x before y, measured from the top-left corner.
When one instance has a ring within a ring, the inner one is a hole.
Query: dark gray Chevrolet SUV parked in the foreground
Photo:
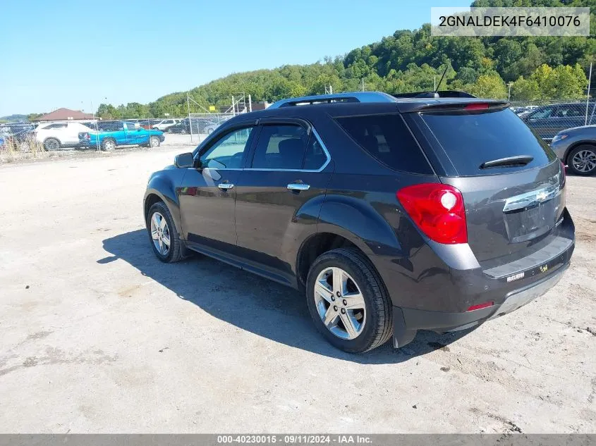
[[[243,113],[151,175],[147,242],[300,290],[346,352],[478,326],[550,290],[575,243],[564,168],[508,106],[358,92]]]

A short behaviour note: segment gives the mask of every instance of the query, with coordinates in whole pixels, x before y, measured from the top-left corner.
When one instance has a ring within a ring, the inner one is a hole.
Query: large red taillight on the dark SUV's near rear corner
[[[396,195],[403,209],[431,240],[446,244],[468,242],[466,209],[461,192],[455,187],[424,183],[403,187]]]

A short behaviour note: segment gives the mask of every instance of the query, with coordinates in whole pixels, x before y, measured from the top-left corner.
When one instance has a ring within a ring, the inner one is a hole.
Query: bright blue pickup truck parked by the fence
[[[90,132],[79,134],[82,147],[100,147],[104,151],[111,151],[117,146],[139,145],[157,147],[164,142],[164,132],[147,130],[128,121],[99,121],[93,123]]]

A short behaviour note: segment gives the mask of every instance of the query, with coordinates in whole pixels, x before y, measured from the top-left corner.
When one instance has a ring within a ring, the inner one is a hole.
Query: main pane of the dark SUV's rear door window
[[[309,135],[300,125],[265,125],[260,133],[253,168],[301,169]]]

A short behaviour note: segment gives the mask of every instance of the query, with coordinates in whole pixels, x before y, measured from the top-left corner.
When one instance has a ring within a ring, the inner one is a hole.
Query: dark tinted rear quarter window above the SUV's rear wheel
[[[428,161],[399,114],[335,119],[360,147],[385,166],[397,171],[432,174]]]

